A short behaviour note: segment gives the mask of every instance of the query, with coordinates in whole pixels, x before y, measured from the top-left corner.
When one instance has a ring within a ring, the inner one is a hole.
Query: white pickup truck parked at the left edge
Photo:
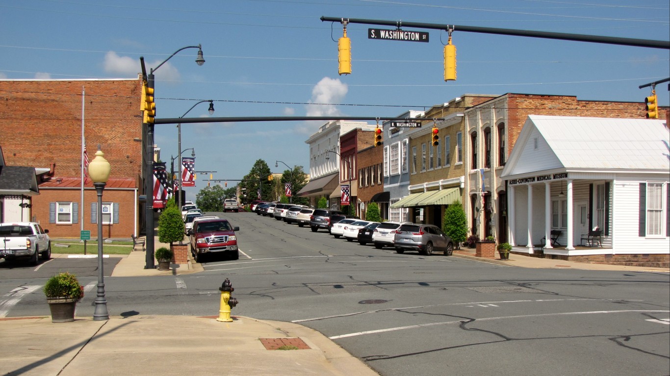
[[[38,255],[43,260],[51,258],[49,230],[43,230],[39,223],[0,223],[0,257],[13,261],[27,258],[32,265],[38,264]]]

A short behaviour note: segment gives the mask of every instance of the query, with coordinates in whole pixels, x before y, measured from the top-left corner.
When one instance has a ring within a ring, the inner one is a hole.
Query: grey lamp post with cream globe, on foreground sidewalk
[[[95,158],[88,164],[88,176],[90,176],[95,190],[98,192],[98,296],[94,302],[93,320],[95,321],[109,320],[107,299],[105,299],[105,273],[103,272],[103,190],[107,180],[109,180],[111,166],[103,155],[105,153],[100,150],[100,145],[98,145]]]

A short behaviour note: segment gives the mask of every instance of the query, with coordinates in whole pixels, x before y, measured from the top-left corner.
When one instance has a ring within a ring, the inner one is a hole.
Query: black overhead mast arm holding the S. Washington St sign
[[[321,21],[332,21],[340,23],[341,22],[364,23],[367,25],[387,25],[387,26],[398,27],[398,21],[388,21],[383,19],[358,19],[358,18],[322,16]],[[480,26],[464,26],[464,25],[440,25],[439,23],[420,23],[420,22],[407,22],[407,21],[403,21],[402,25],[405,27],[415,27],[418,29],[435,29],[435,30],[452,29],[454,32],[472,32],[472,33],[483,33],[483,34],[498,34],[504,36],[521,36],[521,37],[545,38],[545,39],[556,39],[556,40],[573,40],[576,42],[617,44],[619,46],[663,48],[665,50],[670,50],[670,41],[666,40],[646,40],[646,39],[616,38],[606,36],[587,36],[581,34],[537,32],[535,30],[500,29],[498,27],[480,27]]]

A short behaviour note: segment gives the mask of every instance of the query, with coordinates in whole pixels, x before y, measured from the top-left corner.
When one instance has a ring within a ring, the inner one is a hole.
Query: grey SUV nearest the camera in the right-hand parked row
[[[421,255],[432,255],[433,251],[444,251],[445,256],[454,252],[454,242],[449,235],[435,225],[405,223],[395,231],[395,251],[419,251]]]

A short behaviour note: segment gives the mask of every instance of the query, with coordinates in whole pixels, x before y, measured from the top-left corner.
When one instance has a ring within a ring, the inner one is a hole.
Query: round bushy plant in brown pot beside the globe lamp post
[[[84,298],[84,286],[76,275],[58,273],[46,281],[42,290],[51,310],[51,322],[74,321],[74,308]]]

